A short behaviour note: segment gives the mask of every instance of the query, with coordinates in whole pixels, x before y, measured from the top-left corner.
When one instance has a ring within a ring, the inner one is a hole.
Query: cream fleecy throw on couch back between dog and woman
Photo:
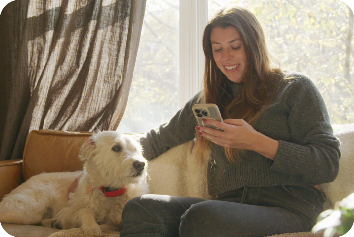
[[[149,162],[151,194],[214,198],[208,194],[207,163],[196,160],[193,148],[190,141]]]

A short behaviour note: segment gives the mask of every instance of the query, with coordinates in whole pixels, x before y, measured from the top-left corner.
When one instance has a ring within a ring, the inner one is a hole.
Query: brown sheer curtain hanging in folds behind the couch
[[[33,129],[115,130],[146,0],[14,0],[0,15],[0,160]]]

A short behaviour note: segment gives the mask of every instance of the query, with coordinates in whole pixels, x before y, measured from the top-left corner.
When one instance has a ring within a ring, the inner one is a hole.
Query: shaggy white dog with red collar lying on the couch
[[[81,227],[98,234],[98,224],[119,225],[124,205],[149,193],[147,160],[128,135],[95,133],[80,159],[86,160],[83,171],[39,174],[14,189],[0,203],[0,222]],[[68,200],[68,187],[82,173]]]

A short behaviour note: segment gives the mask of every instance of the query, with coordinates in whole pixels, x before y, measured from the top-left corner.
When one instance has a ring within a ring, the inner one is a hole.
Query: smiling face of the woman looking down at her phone
[[[234,83],[240,83],[247,72],[246,51],[235,27],[215,27],[210,34],[213,58],[218,68]]]

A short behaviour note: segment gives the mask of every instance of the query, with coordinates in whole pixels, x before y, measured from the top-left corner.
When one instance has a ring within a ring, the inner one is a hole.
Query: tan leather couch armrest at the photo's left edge
[[[0,161],[0,201],[22,181],[22,159]]]

